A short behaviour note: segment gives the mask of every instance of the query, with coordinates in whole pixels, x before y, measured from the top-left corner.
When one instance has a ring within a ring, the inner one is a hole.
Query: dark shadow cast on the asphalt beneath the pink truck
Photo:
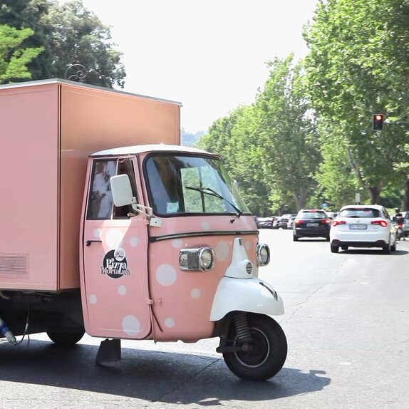
[[[122,361],[115,366],[97,366],[97,351],[98,346],[83,344],[63,349],[46,341],[31,341],[28,347],[1,343],[0,384],[47,385],[151,402],[212,406],[228,400],[272,400],[309,393],[331,382],[323,371],[285,367],[269,381],[243,381],[217,356],[133,348],[122,348]]]

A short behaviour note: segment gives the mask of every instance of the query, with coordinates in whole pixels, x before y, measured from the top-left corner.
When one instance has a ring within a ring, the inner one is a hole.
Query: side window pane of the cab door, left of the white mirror
[[[110,177],[116,173],[116,162],[116,160],[106,159],[93,162],[88,220],[106,220],[112,217],[113,197],[110,190]]]

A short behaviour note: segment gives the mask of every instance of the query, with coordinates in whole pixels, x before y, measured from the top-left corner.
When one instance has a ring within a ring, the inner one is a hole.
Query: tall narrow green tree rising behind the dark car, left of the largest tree
[[[259,118],[261,162],[273,209],[305,207],[316,189],[320,142],[309,100],[305,98],[302,62],[294,56],[269,63],[270,76],[255,104]]]

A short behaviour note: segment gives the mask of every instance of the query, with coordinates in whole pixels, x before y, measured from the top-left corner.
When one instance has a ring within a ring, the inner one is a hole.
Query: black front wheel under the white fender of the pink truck
[[[287,357],[287,341],[279,323],[269,316],[248,315],[252,341],[249,351],[224,352],[227,367],[244,380],[267,380],[278,373]],[[229,338],[231,345],[238,345],[236,328],[232,325]]]

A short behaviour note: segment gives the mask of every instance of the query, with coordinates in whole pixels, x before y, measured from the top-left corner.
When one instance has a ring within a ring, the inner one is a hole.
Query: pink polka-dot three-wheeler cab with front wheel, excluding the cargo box
[[[172,145],[121,147],[92,155],[88,175],[84,324],[91,336],[111,338],[97,362],[120,351],[120,338],[219,336],[217,351],[239,378],[279,372],[286,337],[270,315],[284,307],[257,277],[269,247],[258,242],[220,157]]]

